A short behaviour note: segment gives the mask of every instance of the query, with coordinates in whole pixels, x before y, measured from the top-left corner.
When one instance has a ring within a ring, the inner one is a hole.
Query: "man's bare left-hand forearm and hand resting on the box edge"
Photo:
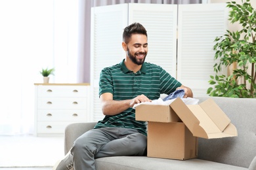
[[[115,101],[113,100],[112,93],[102,93],[100,95],[102,112],[104,115],[116,115],[124,110],[129,109],[129,107],[133,107],[136,103],[151,101],[145,95],[138,95],[133,99],[127,99],[123,101]]]

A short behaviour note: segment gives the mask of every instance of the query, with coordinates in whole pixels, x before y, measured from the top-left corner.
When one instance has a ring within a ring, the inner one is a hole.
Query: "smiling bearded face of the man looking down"
[[[127,56],[133,63],[142,65],[148,54],[148,39],[146,35],[133,34],[127,44]]]

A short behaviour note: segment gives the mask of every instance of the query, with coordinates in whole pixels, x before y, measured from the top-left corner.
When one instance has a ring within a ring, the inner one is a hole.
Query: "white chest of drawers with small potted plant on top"
[[[68,124],[88,122],[89,84],[35,84],[34,135],[63,135]]]

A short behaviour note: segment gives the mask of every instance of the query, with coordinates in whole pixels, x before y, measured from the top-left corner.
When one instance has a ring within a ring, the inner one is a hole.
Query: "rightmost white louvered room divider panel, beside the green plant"
[[[177,79],[194,96],[205,96],[209,75],[215,75],[214,40],[228,25],[226,4],[179,5],[178,16]]]

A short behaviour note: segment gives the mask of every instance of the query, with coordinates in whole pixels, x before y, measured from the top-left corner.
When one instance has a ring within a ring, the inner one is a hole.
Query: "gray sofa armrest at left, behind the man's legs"
[[[73,143],[77,137],[83,135],[86,131],[93,129],[96,122],[83,122],[74,123],[66,126],[65,136],[64,136],[64,154],[66,155],[70,148],[72,148]]]

